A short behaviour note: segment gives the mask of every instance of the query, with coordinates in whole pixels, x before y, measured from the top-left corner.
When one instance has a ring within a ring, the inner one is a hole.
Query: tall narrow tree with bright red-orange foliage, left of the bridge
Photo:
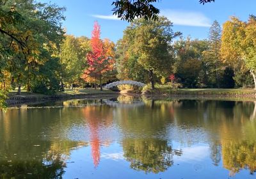
[[[102,91],[102,77],[106,72],[113,70],[113,60],[108,56],[108,49],[104,47],[104,43],[100,40],[100,26],[95,21],[90,40],[92,51],[86,56],[89,67],[84,70],[82,78],[84,81],[100,81],[100,90]]]

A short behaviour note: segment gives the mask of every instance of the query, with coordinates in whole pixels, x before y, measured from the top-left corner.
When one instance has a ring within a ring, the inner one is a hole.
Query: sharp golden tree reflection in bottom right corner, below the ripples
[[[223,166],[231,171],[231,174],[240,169],[250,169],[250,173],[256,171],[256,143],[250,141],[227,141],[222,143]]]

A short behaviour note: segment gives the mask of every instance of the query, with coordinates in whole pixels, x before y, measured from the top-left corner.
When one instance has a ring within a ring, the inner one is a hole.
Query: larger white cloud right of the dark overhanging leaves
[[[184,10],[161,10],[164,15],[175,25],[210,27],[211,20],[200,12],[188,12]]]

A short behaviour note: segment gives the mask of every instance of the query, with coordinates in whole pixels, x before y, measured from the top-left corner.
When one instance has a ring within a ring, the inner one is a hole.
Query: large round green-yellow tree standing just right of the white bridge
[[[172,40],[180,33],[173,33],[172,22],[166,17],[158,20],[138,19],[127,27],[134,33],[131,50],[138,56],[138,63],[149,73],[154,89],[154,75],[170,74],[173,64]]]

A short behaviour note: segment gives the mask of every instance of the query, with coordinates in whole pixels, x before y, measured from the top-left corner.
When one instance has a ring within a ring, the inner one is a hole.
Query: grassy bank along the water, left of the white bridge
[[[63,92],[58,92],[54,95],[44,95],[38,93],[28,93],[26,91],[21,91],[20,95],[17,95],[17,91],[11,91],[8,94],[8,99],[6,100],[7,104],[13,103],[22,103],[22,102],[33,102],[33,101],[42,101],[42,100],[58,100],[58,99],[69,99],[69,98],[79,98],[79,97],[95,97],[97,96],[106,96],[106,95],[115,95],[117,94],[114,91],[109,89],[93,89],[93,88],[86,88],[86,89],[65,89]]]

